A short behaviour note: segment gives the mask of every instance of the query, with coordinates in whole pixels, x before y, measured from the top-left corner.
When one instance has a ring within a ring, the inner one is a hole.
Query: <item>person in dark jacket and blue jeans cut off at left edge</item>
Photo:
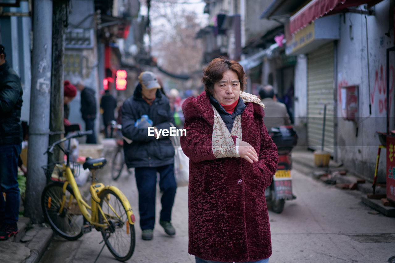
[[[0,45],[0,240],[18,233],[18,157],[22,148],[22,86]]]

